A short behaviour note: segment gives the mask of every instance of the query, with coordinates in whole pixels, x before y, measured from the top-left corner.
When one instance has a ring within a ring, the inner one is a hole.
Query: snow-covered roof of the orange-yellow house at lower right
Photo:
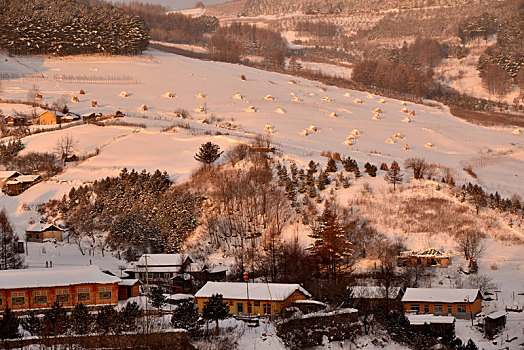
[[[478,289],[407,288],[403,302],[463,303],[475,301]]]

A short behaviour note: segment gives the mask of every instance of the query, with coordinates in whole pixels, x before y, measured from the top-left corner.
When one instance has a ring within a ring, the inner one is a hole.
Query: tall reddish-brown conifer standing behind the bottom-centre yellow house
[[[346,238],[344,229],[329,204],[326,204],[317,223],[317,227],[310,235],[314,242],[308,249],[311,255],[325,267],[326,277],[336,281],[343,260],[353,253],[351,242]]]

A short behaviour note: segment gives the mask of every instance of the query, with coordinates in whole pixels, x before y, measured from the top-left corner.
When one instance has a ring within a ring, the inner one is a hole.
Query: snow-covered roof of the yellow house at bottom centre
[[[299,284],[287,283],[244,283],[244,282],[207,282],[196,294],[197,298],[210,298],[213,294],[222,294],[224,299],[247,300],[247,289],[251,300],[286,300],[298,290],[306,297],[311,297]]]

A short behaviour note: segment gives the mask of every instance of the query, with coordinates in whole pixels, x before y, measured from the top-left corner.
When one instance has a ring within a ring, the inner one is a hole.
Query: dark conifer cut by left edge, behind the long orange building
[[[18,253],[18,236],[4,208],[0,211],[0,270],[23,267],[24,257]]]

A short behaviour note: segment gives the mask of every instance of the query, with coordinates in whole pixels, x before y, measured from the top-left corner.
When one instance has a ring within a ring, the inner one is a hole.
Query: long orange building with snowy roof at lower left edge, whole
[[[0,310],[116,305],[120,281],[94,265],[0,271]]]

